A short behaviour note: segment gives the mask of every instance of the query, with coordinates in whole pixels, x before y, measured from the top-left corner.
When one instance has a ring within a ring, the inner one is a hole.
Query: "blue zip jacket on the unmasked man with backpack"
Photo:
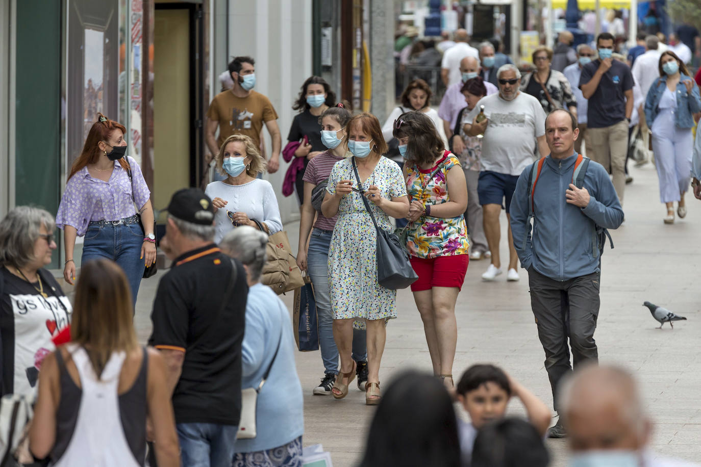
[[[606,169],[593,160],[584,179],[589,204],[580,208],[566,202],[565,192],[573,183],[576,158],[576,153],[562,160],[550,155],[545,158],[533,192],[532,235],[528,196],[532,166],[519,176],[510,206],[511,232],[522,267],[527,270],[532,265],[540,274],[557,281],[598,271],[597,225],[615,229],[623,221],[613,183]]]

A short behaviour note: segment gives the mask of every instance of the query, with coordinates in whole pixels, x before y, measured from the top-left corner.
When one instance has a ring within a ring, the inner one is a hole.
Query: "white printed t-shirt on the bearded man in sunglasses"
[[[519,92],[507,101],[499,94],[482,97],[468,120],[475,120],[479,107],[489,123],[482,139],[482,170],[518,176],[533,162],[537,137],[545,134],[545,112],[535,97]]]

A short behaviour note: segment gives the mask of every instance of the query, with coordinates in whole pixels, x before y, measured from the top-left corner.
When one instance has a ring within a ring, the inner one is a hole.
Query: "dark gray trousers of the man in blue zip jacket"
[[[529,267],[528,275],[531,308],[545,350],[545,370],[550,379],[553,405],[558,410],[559,383],[572,371],[569,347],[575,369],[587,361],[599,361],[594,330],[599,316],[601,273],[556,281]]]

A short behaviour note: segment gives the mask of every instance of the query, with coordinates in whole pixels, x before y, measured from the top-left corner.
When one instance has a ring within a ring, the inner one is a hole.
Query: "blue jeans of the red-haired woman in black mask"
[[[90,225],[83,240],[81,264],[97,258],[113,260],[124,271],[136,305],[136,295],[144,275],[141,246],[144,232],[139,223],[129,225]]]

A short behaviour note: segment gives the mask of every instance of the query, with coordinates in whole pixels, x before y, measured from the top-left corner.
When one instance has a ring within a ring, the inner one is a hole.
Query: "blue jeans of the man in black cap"
[[[179,423],[175,428],[183,466],[231,466],[238,426]]]

